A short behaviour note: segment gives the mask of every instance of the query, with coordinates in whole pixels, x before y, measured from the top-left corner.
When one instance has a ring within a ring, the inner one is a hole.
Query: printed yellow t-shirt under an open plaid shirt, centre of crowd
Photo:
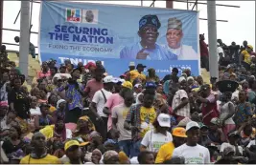
[[[153,128],[152,123],[155,120],[156,112],[153,107],[140,109],[140,121],[141,121],[141,137],[143,137],[150,129]]]

